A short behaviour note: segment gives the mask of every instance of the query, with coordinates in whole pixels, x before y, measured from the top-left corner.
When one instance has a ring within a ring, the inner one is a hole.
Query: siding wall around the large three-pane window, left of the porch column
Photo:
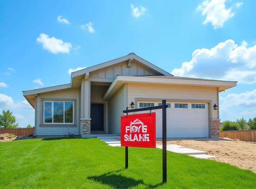
[[[40,127],[40,116],[43,115],[41,98],[63,98],[76,99],[76,127]],[[49,93],[38,94],[36,98],[36,135],[65,135],[68,131],[72,134],[79,135],[79,89],[67,89]]]

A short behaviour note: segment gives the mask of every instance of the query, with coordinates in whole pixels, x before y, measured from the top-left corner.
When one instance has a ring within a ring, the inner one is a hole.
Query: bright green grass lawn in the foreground
[[[0,188],[256,188],[256,174],[226,163],[162,150],[110,147],[99,139],[32,139],[0,143]]]

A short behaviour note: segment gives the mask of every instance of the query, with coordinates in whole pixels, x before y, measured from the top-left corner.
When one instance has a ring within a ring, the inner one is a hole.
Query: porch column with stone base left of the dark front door
[[[90,105],[91,83],[87,72],[81,83],[81,134],[91,134]]]

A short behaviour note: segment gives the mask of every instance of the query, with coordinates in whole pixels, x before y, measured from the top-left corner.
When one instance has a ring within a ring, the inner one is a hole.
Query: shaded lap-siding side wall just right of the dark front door
[[[124,86],[108,101],[108,133],[120,134],[120,116],[124,110]]]

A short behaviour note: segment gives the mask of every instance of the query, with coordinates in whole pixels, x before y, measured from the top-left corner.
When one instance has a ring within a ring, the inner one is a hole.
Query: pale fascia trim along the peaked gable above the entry
[[[138,62],[140,62],[141,64],[143,64],[144,67],[149,68],[149,69],[153,69],[159,75],[173,76],[171,73],[164,71],[163,69],[157,67],[154,64],[151,64],[147,60],[144,60],[143,58],[135,55],[134,53],[130,53],[130,54],[124,56],[124,57],[116,58],[116,59],[110,60],[108,62],[104,62],[104,63],[97,64],[97,65],[94,65],[94,66],[91,66],[91,67],[88,67],[88,68],[84,68],[82,70],[78,70],[76,72],[72,72],[71,73],[71,86],[73,86],[72,83],[73,83],[74,78],[75,79],[76,78],[81,79],[79,76],[84,75],[88,72],[93,72],[93,71],[96,71],[96,70],[99,70],[99,69],[102,69],[102,68],[105,68],[105,67],[108,67],[108,66],[111,66],[111,65],[114,65],[114,64],[118,64],[120,62],[133,60],[133,59],[135,59]]]

